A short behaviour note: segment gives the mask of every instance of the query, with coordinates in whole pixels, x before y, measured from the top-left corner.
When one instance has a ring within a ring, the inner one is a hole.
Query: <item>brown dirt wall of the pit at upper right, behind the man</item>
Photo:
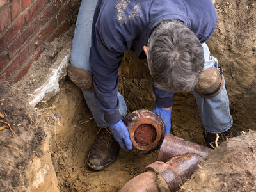
[[[234,127],[256,129],[256,2],[216,1],[218,24],[208,44],[223,67]]]

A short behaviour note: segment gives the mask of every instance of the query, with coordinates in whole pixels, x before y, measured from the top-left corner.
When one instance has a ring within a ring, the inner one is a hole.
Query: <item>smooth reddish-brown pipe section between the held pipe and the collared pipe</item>
[[[168,159],[173,156],[186,153],[195,153],[204,159],[211,151],[211,148],[178,138],[171,134],[166,134],[164,136],[157,161],[168,161]]]

